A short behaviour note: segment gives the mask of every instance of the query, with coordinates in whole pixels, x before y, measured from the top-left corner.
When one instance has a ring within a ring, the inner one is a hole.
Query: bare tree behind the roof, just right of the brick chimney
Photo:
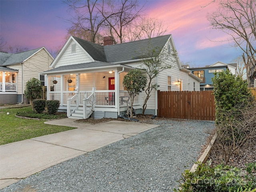
[[[124,42],[132,23],[140,18],[143,7],[139,6],[138,0],[103,0],[99,11],[114,44]]]

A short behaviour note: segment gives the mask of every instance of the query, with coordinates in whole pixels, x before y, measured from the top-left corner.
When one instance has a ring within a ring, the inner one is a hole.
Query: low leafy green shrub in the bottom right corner
[[[255,177],[247,174],[243,178],[242,171],[232,166],[219,164],[198,164],[195,172],[185,170],[180,180],[179,189],[175,192],[245,192],[256,187]],[[251,166],[251,165],[250,165]]]

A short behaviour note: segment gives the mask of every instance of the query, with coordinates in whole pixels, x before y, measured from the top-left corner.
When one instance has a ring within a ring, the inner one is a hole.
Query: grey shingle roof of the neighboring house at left
[[[0,52],[0,66],[9,66],[9,65],[21,63],[40,49],[41,48],[37,48],[37,49],[24,51],[20,53]]]

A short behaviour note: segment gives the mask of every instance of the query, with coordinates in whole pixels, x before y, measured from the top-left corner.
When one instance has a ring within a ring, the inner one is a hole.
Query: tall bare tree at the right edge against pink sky
[[[230,36],[243,54],[246,66],[256,65],[256,0],[214,0],[219,4],[216,12],[208,14],[210,25]],[[246,67],[247,70],[248,67]],[[247,80],[248,78],[248,71]]]

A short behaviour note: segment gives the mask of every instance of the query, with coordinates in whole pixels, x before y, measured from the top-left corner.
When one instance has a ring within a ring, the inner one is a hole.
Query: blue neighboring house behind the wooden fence
[[[213,90],[212,77],[214,77],[214,72],[229,70],[232,74],[237,75],[236,63],[225,64],[216,62],[205,67],[190,68],[189,65],[184,65],[183,67],[190,70],[195,76],[202,80],[202,82],[200,82],[200,91]]]

